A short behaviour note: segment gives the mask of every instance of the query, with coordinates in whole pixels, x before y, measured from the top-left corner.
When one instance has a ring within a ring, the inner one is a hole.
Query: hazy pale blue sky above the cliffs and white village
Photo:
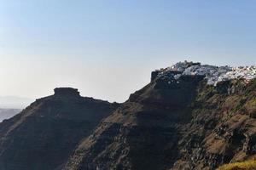
[[[0,95],[124,101],[179,60],[256,65],[251,0],[0,0]]]

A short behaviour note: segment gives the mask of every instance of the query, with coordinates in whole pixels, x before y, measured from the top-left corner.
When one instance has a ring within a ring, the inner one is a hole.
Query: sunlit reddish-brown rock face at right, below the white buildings
[[[201,84],[172,169],[215,169],[256,156],[256,80]]]

